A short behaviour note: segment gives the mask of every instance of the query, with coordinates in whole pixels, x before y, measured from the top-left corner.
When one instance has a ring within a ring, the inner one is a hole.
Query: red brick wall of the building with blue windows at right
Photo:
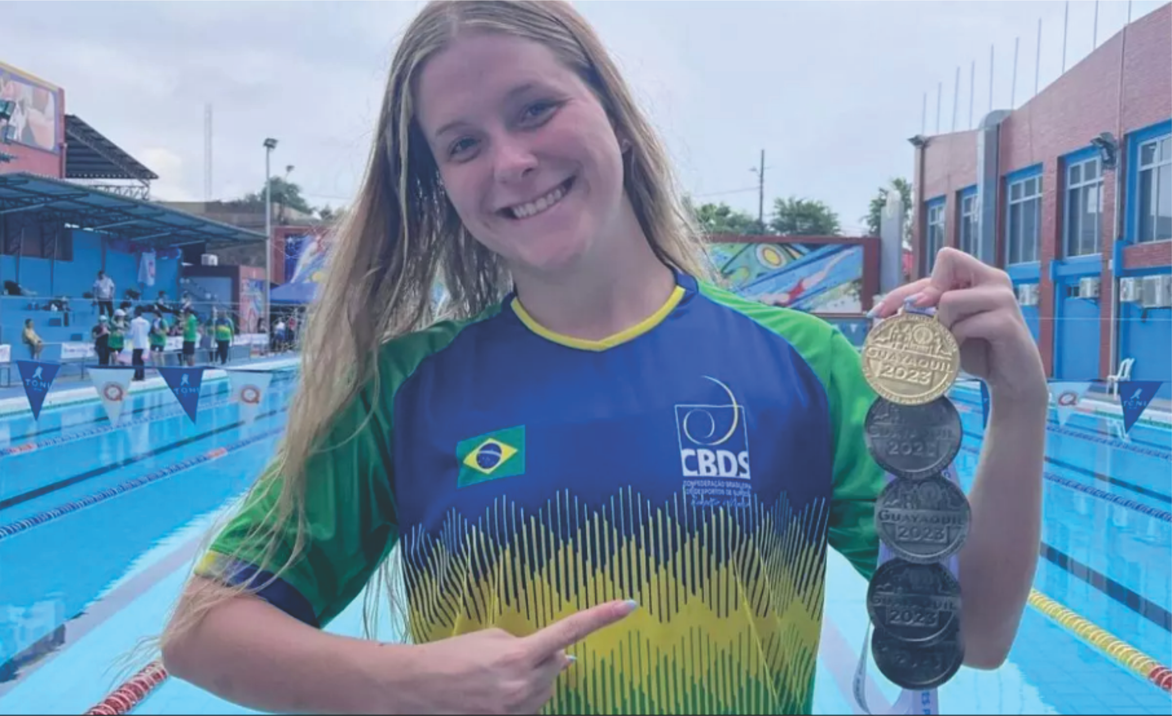
[[[1050,280],[1050,262],[1061,260],[1061,227],[1063,216],[1062,180],[1065,168],[1061,157],[1090,145],[1090,139],[1110,131],[1123,142],[1134,130],[1150,127],[1172,116],[1172,5],[1132,22],[1126,37],[1119,32],[1101,45],[1083,61],[1014,111],[1001,125],[999,169],[1002,176],[1042,164],[1042,220],[1040,231],[1040,298],[1041,316],[1038,348],[1047,370],[1054,370],[1055,356],[1055,287]],[[1122,73],[1120,73],[1122,69]],[[1122,96],[1122,107],[1120,107]],[[1126,177],[1126,151],[1120,148],[1117,172]],[[921,171],[922,163],[922,171]],[[921,176],[922,175],[922,176]],[[976,132],[956,132],[931,137],[926,149],[918,150],[917,185],[922,190],[913,223],[913,251],[917,268],[921,265],[925,211],[924,202],[947,197],[945,209],[946,243],[956,245],[959,200],[956,192],[976,182]],[[922,184],[920,182],[922,180]],[[1099,366],[1101,374],[1111,362],[1111,244],[1119,236],[1116,229],[1116,173],[1105,172],[1103,180],[1103,212],[1101,213],[1102,298],[1099,301]],[[999,264],[1006,257],[1006,196],[1000,186],[997,200]],[[1124,187],[1126,192],[1126,187]],[[1120,204],[1123,206],[1123,204]],[[1129,246],[1124,251],[1124,266],[1165,266],[1172,264],[1168,243]]]

